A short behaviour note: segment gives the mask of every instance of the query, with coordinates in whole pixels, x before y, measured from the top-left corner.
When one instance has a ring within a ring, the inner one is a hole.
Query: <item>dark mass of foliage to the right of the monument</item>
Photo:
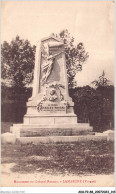
[[[84,86],[69,91],[78,122],[89,122],[98,132],[114,127],[114,86]]]

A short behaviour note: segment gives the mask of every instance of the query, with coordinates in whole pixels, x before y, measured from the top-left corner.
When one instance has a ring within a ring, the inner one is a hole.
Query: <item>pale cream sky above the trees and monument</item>
[[[78,86],[97,80],[103,70],[114,83],[113,1],[4,1],[1,7],[1,42],[19,35],[36,45],[68,29],[75,44],[83,42],[89,53],[76,76]]]

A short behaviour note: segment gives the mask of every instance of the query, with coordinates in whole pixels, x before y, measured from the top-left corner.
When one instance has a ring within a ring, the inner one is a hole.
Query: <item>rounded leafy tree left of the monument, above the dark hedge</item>
[[[33,79],[35,46],[17,36],[1,45],[1,77],[22,88]]]

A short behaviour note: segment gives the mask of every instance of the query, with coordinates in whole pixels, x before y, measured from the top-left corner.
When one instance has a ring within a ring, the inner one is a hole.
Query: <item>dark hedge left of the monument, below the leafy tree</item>
[[[3,122],[23,122],[26,102],[32,95],[31,88],[2,86],[1,119]]]

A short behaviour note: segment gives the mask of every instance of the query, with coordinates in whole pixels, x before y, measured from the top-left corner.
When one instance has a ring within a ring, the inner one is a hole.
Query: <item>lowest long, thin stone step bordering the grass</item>
[[[17,141],[22,144],[27,143],[75,143],[75,142],[87,142],[87,141],[107,141],[107,136],[50,136],[50,137],[20,137]]]

